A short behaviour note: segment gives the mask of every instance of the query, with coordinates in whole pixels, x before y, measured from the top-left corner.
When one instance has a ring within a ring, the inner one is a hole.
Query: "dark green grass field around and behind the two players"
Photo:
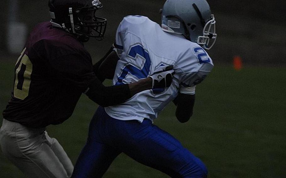
[[[10,98],[14,62],[0,61],[0,110]],[[208,167],[209,178],[286,178],[286,68],[217,65],[197,86],[194,115],[179,123],[170,103],[155,124],[178,138]],[[97,105],[82,96],[73,116],[49,126],[75,163]],[[64,112],[64,111],[63,111]],[[2,117],[0,119],[2,123]],[[163,163],[162,163],[163,164]],[[0,151],[0,177],[24,175]],[[120,154],[106,178],[168,177]]]

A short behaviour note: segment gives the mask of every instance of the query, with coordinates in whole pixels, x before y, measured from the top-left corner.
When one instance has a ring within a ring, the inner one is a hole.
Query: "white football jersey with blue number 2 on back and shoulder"
[[[128,101],[106,107],[107,114],[120,120],[155,119],[181,89],[200,83],[212,70],[206,51],[196,43],[164,32],[144,16],[127,16],[118,26],[115,51],[119,56],[113,85],[129,84],[146,78],[161,65],[173,65],[176,72],[166,90],[146,90]]]

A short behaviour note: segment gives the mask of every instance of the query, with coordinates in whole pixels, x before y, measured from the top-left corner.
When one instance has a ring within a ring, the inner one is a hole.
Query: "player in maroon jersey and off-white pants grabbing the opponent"
[[[96,16],[99,0],[49,0],[51,21],[37,24],[15,66],[12,98],[3,111],[3,154],[28,177],[70,177],[73,164],[45,127],[63,123],[85,93],[101,106],[115,105],[134,94],[169,86],[172,70],[136,83],[103,86],[83,42],[102,39],[107,20]],[[109,52],[111,52],[110,50]],[[106,55],[107,56],[107,55]]]

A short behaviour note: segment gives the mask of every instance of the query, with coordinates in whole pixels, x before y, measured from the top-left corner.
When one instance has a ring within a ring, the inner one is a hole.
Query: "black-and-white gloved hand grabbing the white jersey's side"
[[[173,65],[158,67],[156,71],[149,76],[152,79],[152,89],[169,87],[173,81],[174,74]]]

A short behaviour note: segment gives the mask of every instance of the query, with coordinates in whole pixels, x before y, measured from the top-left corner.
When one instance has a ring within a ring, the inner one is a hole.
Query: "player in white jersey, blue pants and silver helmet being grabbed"
[[[100,69],[107,71],[117,62],[113,85],[122,85],[173,66],[171,86],[99,107],[72,177],[102,177],[122,152],[171,177],[207,176],[203,162],[153,120],[171,101],[180,122],[190,119],[195,86],[213,68],[206,49],[216,40],[215,19],[206,0],[167,0],[161,13],[161,27],[144,16],[125,17],[116,32],[114,52]]]

